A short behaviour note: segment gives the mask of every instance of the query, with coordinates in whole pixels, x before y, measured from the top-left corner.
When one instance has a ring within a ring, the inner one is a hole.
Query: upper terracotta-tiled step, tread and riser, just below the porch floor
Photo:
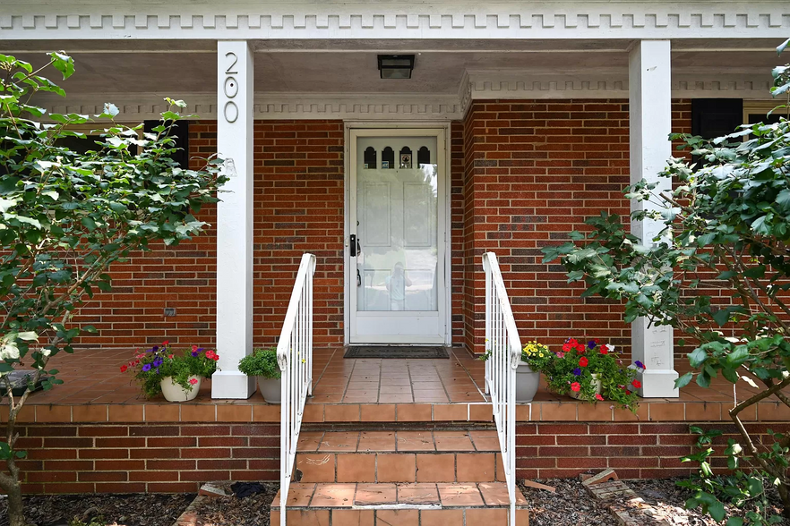
[[[302,482],[504,480],[494,430],[303,432]]]

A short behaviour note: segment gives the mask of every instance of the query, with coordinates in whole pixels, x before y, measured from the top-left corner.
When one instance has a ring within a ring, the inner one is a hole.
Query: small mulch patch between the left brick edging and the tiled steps
[[[229,482],[214,486],[231,493]],[[195,506],[195,512],[200,517],[198,523],[215,526],[269,526],[269,509],[279,489],[279,483],[263,482],[262,486],[262,493],[244,498],[211,496],[202,499]]]

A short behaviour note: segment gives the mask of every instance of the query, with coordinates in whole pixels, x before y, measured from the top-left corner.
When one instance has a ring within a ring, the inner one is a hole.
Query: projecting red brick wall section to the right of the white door
[[[675,131],[689,131],[691,102],[675,101]],[[580,299],[560,265],[540,249],[584,230],[601,210],[627,215],[628,102],[491,100],[464,121],[466,342],[482,352],[485,283],[480,258],[494,250],[522,340],[561,344],[570,336],[605,339],[629,352],[631,328],[619,304]]]

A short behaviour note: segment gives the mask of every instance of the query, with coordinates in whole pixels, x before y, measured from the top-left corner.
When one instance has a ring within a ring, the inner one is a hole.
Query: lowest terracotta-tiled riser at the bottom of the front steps
[[[288,524],[368,524],[370,526],[492,526],[508,523],[507,508],[453,508],[441,510],[288,510]],[[270,524],[279,524],[279,510],[270,512]],[[515,526],[528,526],[529,513],[516,510]]]

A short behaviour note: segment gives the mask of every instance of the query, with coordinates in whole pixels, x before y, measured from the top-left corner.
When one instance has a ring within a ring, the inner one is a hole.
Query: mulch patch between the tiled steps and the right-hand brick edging
[[[579,479],[537,480],[556,493],[519,484],[527,499],[530,526],[617,526],[609,511],[589,496]]]

